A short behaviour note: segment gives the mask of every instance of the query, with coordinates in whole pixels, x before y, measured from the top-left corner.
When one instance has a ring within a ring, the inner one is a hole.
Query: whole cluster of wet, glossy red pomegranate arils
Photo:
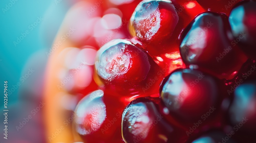
[[[66,51],[78,141],[255,142],[255,1],[101,4]]]

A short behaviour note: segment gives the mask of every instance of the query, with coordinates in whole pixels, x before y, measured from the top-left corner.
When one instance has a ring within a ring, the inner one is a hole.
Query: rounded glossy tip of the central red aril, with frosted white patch
[[[150,70],[148,59],[150,57],[126,40],[109,42],[101,47],[98,55],[99,60],[96,61],[95,68],[101,78],[110,82],[115,80],[140,82],[146,78]]]

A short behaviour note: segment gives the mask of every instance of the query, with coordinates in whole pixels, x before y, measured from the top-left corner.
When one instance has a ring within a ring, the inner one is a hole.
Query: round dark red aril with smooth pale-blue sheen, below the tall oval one
[[[218,108],[221,95],[217,79],[198,70],[177,69],[163,81],[161,100],[170,116],[190,125]]]

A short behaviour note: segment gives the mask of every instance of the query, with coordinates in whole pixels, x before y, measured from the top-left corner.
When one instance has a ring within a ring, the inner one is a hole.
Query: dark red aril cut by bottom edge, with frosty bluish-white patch
[[[181,130],[158,112],[155,101],[159,102],[159,98],[138,98],[126,107],[122,116],[122,137],[126,143],[185,142],[180,140]]]

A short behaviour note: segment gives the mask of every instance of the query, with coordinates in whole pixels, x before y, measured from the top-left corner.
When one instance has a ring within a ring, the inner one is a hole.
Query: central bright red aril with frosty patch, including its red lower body
[[[159,67],[152,58],[128,40],[112,40],[102,46],[95,68],[105,92],[117,96],[158,93],[163,79],[163,75],[156,75]]]

